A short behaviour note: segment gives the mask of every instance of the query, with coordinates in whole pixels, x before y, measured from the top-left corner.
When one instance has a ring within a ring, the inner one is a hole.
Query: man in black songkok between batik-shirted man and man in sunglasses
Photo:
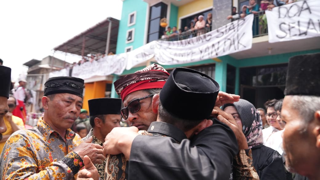
[[[103,145],[104,138],[114,127],[120,127],[121,99],[120,98],[97,98],[88,101],[90,112],[90,124],[92,129],[83,140],[92,136],[92,143]],[[106,161],[95,164],[101,179],[105,179],[104,170]]]

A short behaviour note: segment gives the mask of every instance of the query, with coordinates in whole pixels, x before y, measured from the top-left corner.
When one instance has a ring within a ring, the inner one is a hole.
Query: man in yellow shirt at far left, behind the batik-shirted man
[[[14,98],[13,95],[9,95],[8,107],[9,111],[4,116],[4,124],[7,127],[7,131],[2,134],[3,138],[0,141],[0,154],[2,152],[5,142],[10,137],[10,135],[20,129],[24,129],[23,120],[12,114],[12,111],[16,107],[16,98]]]

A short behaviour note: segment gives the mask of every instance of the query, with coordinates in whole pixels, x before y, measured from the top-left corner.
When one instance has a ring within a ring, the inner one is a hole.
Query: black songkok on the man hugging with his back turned
[[[208,119],[219,93],[219,84],[208,75],[175,68],[160,91],[165,110],[180,119]]]

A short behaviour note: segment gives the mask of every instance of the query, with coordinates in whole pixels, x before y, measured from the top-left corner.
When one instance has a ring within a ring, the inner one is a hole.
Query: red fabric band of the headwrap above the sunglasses
[[[122,92],[120,94],[122,101],[124,101],[124,98],[132,92],[144,90],[144,89],[162,88],[166,82],[166,81],[150,82],[153,80],[154,79],[140,81],[140,82],[134,83],[134,84],[129,85],[126,88],[124,88],[124,90],[122,90]]]

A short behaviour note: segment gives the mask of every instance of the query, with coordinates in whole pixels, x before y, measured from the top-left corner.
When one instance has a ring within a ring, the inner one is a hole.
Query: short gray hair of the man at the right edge
[[[291,108],[299,112],[306,123],[314,119],[315,112],[320,110],[320,96],[292,95]]]

